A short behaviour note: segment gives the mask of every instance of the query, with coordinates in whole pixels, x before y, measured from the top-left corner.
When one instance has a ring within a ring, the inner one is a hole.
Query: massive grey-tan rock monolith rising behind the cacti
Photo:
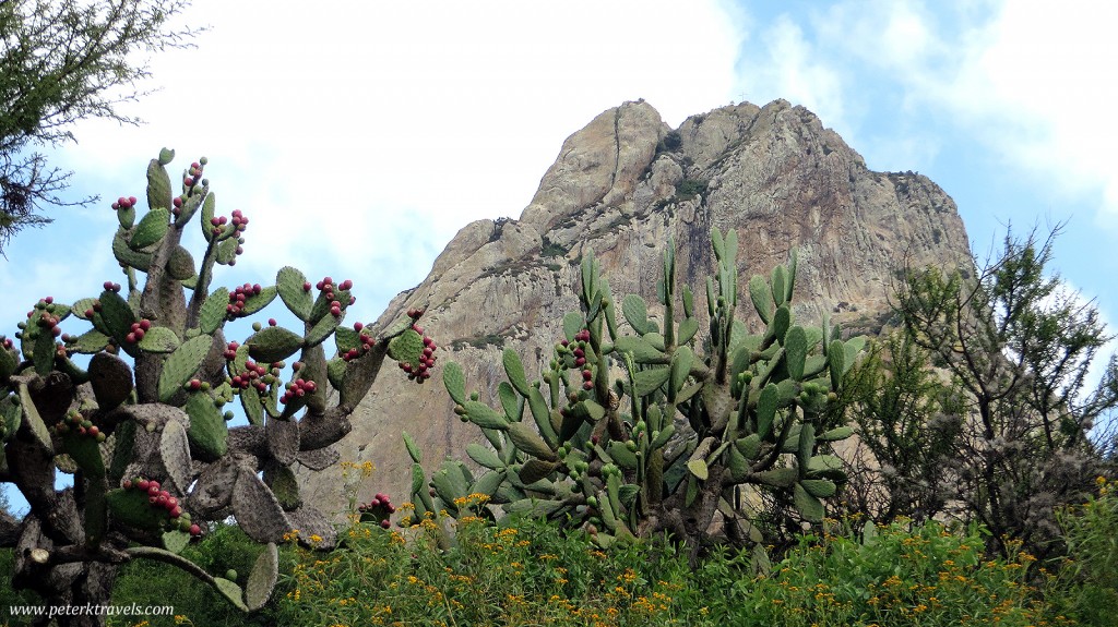
[[[710,230],[733,229],[745,280],[799,251],[797,317],[824,311],[847,329],[873,332],[888,316],[887,293],[907,261],[965,263],[968,243],[955,203],[912,173],[879,173],[814,114],[784,100],[716,109],[671,129],[644,102],[597,116],[562,145],[520,220],[464,226],[430,274],[383,314],[426,308],[427,335],[462,364],[467,388],[493,393],[500,353],[527,366],[551,357],[560,320],[578,308],[578,262],[593,249],[618,299],[655,301],[660,251],[672,239],[678,277],[705,312],[703,281],[713,268]],[[747,299],[748,300],[748,299]],[[747,303],[739,312],[756,324]],[[343,460],[372,461],[366,491],[397,501],[410,485],[401,432],[426,462],[459,455],[477,430],[462,424],[437,376],[425,386],[383,376],[353,414]],[[305,474],[305,493],[324,511],[342,505],[337,471]]]

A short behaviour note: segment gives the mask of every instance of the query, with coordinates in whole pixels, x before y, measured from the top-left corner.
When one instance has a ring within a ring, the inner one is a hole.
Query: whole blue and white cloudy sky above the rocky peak
[[[193,0],[192,48],[139,56],[153,90],[49,151],[87,208],[18,234],[0,259],[0,332],[39,298],[120,280],[110,204],[207,156],[218,213],[249,216],[220,284],[285,264],[354,281],[371,321],[419,283],[454,234],[518,218],[562,142],[644,98],[689,115],[784,98],[870,168],[916,171],[959,208],[986,257],[1062,223],[1052,270],[1118,321],[1118,3],[974,1]],[[314,279],[312,279],[314,280]],[[7,322],[3,322],[3,321]],[[84,330],[84,329],[82,329]]]

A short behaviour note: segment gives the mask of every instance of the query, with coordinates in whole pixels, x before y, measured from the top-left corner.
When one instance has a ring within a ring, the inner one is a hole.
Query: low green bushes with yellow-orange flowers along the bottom
[[[803,538],[757,575],[751,551],[723,547],[692,568],[663,539],[599,549],[585,533],[515,517],[500,525],[428,517],[407,540],[358,524],[343,551],[300,550],[274,617],[280,625],[1068,625],[1026,585],[1030,558],[987,560],[975,530],[834,531]]]

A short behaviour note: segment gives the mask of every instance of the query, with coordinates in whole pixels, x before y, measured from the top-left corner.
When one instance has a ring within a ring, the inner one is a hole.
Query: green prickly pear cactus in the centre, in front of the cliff
[[[586,254],[582,310],[563,319],[566,337],[541,380],[530,382],[505,349],[508,382],[491,407],[448,364],[443,380],[455,412],[489,445],[466,447],[480,471],[448,460],[428,479],[406,438],[417,514],[455,515],[465,496],[484,494],[506,512],[585,525],[601,544],[669,531],[693,548],[717,518],[735,543],[759,542],[751,505],[761,493],[790,503],[800,521],[821,521],[844,480],[827,445],[851,435],[835,415],[835,389],[864,341],[843,341],[826,322],[795,321],[795,252],[768,280],[749,281],[764,324],[750,332],[735,319],[737,237],[716,230],[712,239],[718,274],[707,282],[702,336],[692,292],[676,290],[673,247],[663,258],[659,321],[639,297],[615,301]]]

